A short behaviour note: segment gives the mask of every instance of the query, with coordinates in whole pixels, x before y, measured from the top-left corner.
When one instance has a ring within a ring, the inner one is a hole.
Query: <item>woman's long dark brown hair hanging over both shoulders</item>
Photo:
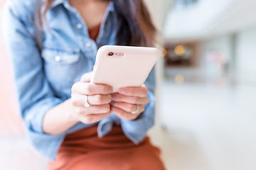
[[[41,17],[46,24],[46,12],[54,0],[44,1]],[[155,41],[156,28],[151,21],[149,11],[143,0],[112,0],[117,12],[117,45],[151,46]],[[40,19],[40,18],[39,18]],[[37,18],[38,20],[38,18]]]

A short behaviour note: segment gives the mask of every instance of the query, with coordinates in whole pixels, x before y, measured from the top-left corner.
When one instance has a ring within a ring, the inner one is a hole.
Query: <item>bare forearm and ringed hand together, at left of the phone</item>
[[[43,132],[59,135],[75,124],[96,123],[110,115],[112,87],[91,84],[92,72],[82,75],[79,82],[72,86],[71,98],[47,111],[43,118]],[[85,96],[90,103],[85,108]]]

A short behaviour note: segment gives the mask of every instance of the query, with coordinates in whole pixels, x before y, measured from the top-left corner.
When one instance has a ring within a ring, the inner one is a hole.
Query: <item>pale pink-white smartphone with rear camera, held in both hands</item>
[[[91,82],[119,88],[142,86],[160,52],[154,47],[105,45],[97,51]]]

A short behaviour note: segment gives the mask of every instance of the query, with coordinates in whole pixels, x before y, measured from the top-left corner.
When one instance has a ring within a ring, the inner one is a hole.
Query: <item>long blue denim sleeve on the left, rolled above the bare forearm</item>
[[[32,31],[33,17],[19,13],[13,1],[6,2],[2,16],[23,122],[28,131],[43,133],[44,115],[63,101],[54,96],[44,75],[43,59]]]

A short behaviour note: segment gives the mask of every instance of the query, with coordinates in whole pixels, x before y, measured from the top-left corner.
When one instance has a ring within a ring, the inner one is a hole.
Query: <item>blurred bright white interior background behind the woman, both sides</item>
[[[166,168],[255,170],[256,1],[145,2],[163,51],[149,135]],[[23,134],[2,35],[0,52],[0,169],[46,169]]]

